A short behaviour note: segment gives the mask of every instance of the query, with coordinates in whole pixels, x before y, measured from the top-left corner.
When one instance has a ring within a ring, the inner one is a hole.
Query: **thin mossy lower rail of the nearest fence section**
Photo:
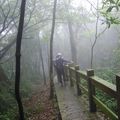
[[[97,97],[93,96],[97,106],[109,117],[111,120],[118,120],[118,116],[111,111],[103,102],[101,102]]]

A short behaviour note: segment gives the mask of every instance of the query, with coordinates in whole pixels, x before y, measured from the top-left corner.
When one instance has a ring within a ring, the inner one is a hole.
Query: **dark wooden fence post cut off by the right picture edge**
[[[120,120],[120,76],[116,75],[116,90],[117,90],[117,114]]]

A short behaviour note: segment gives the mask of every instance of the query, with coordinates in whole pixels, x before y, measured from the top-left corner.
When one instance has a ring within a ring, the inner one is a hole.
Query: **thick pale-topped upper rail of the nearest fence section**
[[[113,85],[97,76],[90,77],[90,79],[92,80],[92,84],[94,84],[95,87],[99,88],[100,90],[103,90],[104,92],[109,94],[111,97],[114,97],[114,98],[117,97],[115,85]]]

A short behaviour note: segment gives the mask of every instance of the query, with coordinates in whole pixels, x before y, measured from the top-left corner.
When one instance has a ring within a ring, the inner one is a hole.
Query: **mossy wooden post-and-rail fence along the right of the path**
[[[94,75],[94,70],[81,71],[78,65],[69,64],[64,67],[66,80],[70,86],[76,86],[77,95],[82,95],[82,90],[86,91],[89,98],[89,111],[96,112],[101,109],[111,120],[120,120],[120,76],[116,75],[116,85],[109,83]],[[82,82],[86,82],[85,86]],[[96,89],[108,94],[117,101],[117,113],[109,109],[96,95]]]

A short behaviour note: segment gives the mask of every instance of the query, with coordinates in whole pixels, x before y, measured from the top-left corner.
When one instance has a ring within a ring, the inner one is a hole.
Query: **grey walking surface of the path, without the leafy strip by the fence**
[[[62,120],[86,120],[84,112],[68,87],[56,86],[56,94]],[[82,118],[82,119],[81,119]]]

